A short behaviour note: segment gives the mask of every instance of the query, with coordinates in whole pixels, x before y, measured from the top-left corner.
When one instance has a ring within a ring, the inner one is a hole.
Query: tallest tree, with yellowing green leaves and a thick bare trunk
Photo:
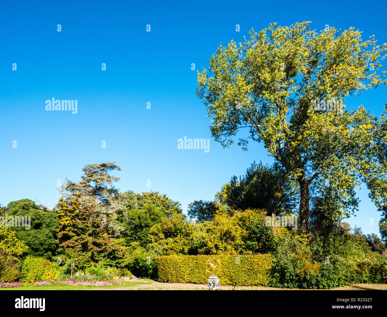
[[[214,139],[230,146],[247,127],[238,144],[247,150],[249,139],[263,142],[298,183],[303,234],[310,233],[315,196],[329,192],[335,212],[345,218],[357,210],[354,188],[363,181],[376,206],[387,206],[386,108],[378,120],[364,106],[317,111],[315,105],[324,100],[326,109],[326,101],[385,84],[385,72],[378,70],[386,44],[376,45],[373,36],[363,41],[353,27],[341,34],[334,27],[317,33],[310,23],[252,30],[239,45],[219,45],[209,69],[197,74],[197,96],[212,118]]]

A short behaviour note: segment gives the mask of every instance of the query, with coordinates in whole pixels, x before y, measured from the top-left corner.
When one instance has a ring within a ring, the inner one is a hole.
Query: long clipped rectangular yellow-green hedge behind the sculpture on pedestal
[[[216,273],[221,285],[269,284],[272,263],[270,254],[166,255],[157,259],[158,280],[166,283],[207,284],[211,274],[206,271],[209,269],[206,263],[210,258],[221,262],[220,272]]]

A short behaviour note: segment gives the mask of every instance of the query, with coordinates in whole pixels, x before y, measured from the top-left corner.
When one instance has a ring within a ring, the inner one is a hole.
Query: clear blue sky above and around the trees
[[[159,191],[184,210],[214,199],[232,175],[271,159],[257,143],[246,152],[212,140],[191,63],[202,70],[220,42],[271,22],[309,20],[318,31],[354,26],[384,43],[386,9],[385,1],[3,2],[0,203],[29,198],[52,207],[58,179],[79,181],[84,165],[107,161],[122,168],[115,173],[121,191]],[[380,115],[386,88],[347,99],[346,110],[364,103]],[[46,111],[51,98],[78,100],[78,113]],[[178,150],[184,136],[210,139],[210,151]],[[359,195],[360,212],[348,222],[378,233],[380,214],[365,189]]]

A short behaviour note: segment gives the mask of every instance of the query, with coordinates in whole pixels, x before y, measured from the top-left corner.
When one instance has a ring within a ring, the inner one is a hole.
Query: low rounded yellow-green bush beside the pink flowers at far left
[[[22,264],[22,281],[32,283],[57,279],[59,271],[57,264],[40,257],[27,257]]]

